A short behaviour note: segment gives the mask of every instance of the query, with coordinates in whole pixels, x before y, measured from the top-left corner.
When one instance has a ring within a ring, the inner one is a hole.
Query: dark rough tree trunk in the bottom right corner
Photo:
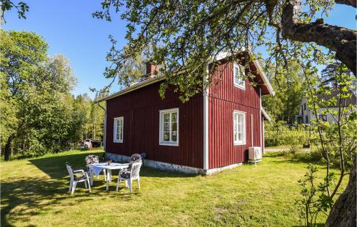
[[[348,186],[338,197],[327,218],[326,227],[356,226],[356,160]]]

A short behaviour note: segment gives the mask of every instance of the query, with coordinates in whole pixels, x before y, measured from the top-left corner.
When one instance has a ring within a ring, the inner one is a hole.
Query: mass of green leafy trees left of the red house
[[[48,56],[46,42],[31,32],[1,30],[1,147],[5,160],[59,152],[86,136],[101,139],[104,111],[76,85],[68,59]],[[93,133],[96,131],[95,133]]]

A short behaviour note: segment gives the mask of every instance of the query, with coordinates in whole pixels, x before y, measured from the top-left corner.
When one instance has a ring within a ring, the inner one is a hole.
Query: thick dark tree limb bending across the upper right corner
[[[337,1],[346,2],[349,0]],[[356,76],[357,32],[340,26],[323,24],[323,19],[309,24],[301,23],[298,17],[300,9],[301,0],[288,0],[283,7],[281,16],[283,38],[292,41],[312,41],[331,51],[336,51],[336,59],[346,64]]]

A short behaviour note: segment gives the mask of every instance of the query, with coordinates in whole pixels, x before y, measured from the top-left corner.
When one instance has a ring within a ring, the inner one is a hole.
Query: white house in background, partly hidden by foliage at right
[[[351,92],[351,95],[352,95],[351,98],[346,99],[346,101],[342,104],[342,106],[349,106],[350,104],[352,104],[353,106],[356,107],[356,94],[353,94],[353,92]],[[329,100],[332,99],[333,97],[337,98],[338,91],[331,90],[331,94],[329,95],[318,94],[317,96],[318,96],[318,100]],[[333,109],[337,111],[338,106],[339,104],[337,102],[336,106],[328,106],[326,108],[318,109],[318,118],[321,121],[328,121],[330,123],[335,121],[331,114],[322,114],[322,112],[325,111],[326,109]],[[305,123],[305,124],[311,123],[311,119],[315,118],[315,114],[313,114],[313,111],[311,111],[311,109],[308,109],[307,99],[305,97],[301,99],[298,115],[296,115],[295,118],[298,123]]]

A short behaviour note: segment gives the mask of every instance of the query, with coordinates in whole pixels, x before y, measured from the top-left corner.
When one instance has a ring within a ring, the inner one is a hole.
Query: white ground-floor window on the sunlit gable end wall
[[[233,111],[233,141],[234,145],[246,143],[246,113]]]

